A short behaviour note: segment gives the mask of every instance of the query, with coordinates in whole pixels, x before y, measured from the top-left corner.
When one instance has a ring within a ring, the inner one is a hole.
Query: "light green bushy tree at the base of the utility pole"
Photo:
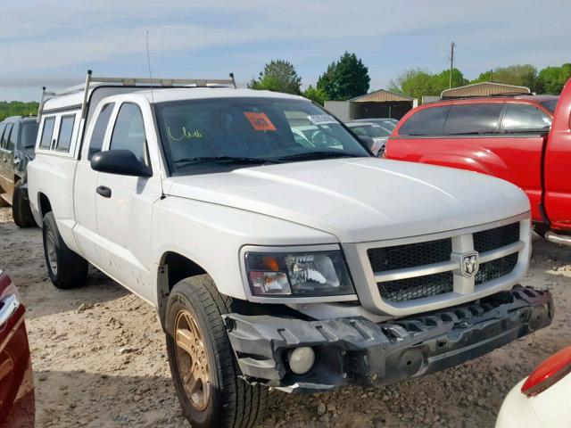
[[[452,87],[468,84],[458,69],[452,70]],[[441,95],[444,89],[450,86],[450,70],[443,70],[438,74],[429,73],[422,69],[405,70],[395,80],[389,82],[392,92],[409,95],[421,99],[422,95]]]

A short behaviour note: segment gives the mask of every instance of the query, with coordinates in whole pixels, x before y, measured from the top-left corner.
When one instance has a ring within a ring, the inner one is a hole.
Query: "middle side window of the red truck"
[[[483,134],[498,130],[502,103],[453,104],[444,134]]]

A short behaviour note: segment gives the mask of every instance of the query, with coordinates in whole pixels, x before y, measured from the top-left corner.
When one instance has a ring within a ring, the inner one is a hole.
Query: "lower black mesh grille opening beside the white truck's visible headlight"
[[[451,292],[453,280],[451,272],[443,272],[442,274],[385,281],[378,283],[378,289],[385,300],[408,301]]]

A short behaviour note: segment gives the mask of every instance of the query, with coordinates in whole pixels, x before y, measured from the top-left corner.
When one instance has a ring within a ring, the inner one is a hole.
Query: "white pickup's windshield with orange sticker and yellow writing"
[[[370,156],[332,116],[309,101],[211,98],[156,104],[173,175],[231,165]]]

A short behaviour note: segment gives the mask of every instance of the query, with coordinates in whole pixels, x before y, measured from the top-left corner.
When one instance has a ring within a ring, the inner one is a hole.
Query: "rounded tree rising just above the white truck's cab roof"
[[[260,72],[256,80],[252,78],[248,87],[252,89],[267,89],[287,94],[302,94],[302,78],[297,75],[294,65],[284,60],[272,60]]]

